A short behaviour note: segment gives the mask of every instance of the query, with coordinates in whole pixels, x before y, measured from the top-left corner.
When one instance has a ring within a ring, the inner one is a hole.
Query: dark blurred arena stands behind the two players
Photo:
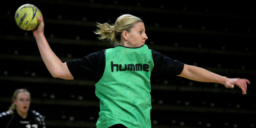
[[[247,78],[247,94],[214,83],[177,76],[151,76],[152,128],[256,127],[254,85],[256,11],[252,3],[207,1],[16,0],[0,8],[0,111],[17,88],[31,92],[30,109],[44,115],[47,128],[94,128],[99,99],[94,81],[53,78],[31,31],[15,23],[23,4],[44,16],[44,34],[63,61],[113,47],[97,39],[96,22],[114,23],[121,14],[140,17],[150,49],[185,64],[227,77]]]

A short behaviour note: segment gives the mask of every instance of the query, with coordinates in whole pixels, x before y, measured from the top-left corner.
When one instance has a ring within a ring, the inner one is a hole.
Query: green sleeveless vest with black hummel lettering
[[[147,45],[117,46],[107,49],[105,57],[103,76],[95,84],[95,94],[100,99],[96,126],[151,127],[150,76],[154,67],[151,50]]]

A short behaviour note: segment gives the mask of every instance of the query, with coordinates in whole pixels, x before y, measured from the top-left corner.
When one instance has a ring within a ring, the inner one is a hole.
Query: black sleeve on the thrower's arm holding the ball
[[[74,79],[90,79],[97,83],[105,70],[105,51],[101,50],[81,59],[67,61]]]

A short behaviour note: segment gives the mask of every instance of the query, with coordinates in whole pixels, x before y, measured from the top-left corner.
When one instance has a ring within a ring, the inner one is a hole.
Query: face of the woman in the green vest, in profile
[[[145,44],[147,35],[144,23],[138,22],[134,24],[130,32],[128,32],[128,47],[140,47]]]

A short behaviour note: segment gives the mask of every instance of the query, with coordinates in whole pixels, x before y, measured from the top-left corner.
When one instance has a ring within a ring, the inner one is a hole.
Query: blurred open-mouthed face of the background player
[[[30,94],[28,92],[20,92],[13,102],[18,112],[27,113],[30,105]]]

